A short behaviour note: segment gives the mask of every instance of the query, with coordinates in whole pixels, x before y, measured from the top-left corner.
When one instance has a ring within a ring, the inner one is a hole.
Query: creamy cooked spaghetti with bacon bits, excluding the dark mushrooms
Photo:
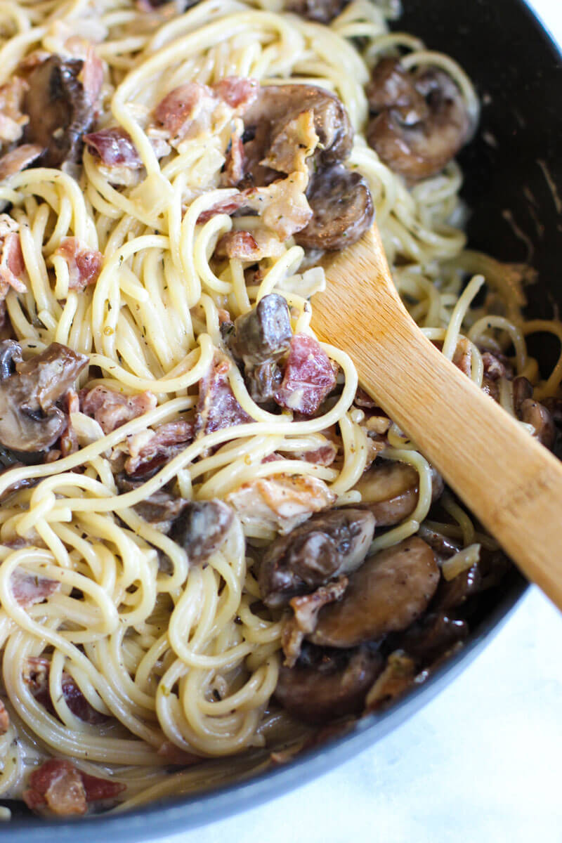
[[[318,132],[299,117],[293,169],[241,201],[244,191],[225,179],[246,142],[238,97],[286,83],[335,94],[355,130],[345,167],[366,180],[394,281],[426,336],[479,386],[490,357],[503,361],[494,389],[516,415],[512,375],[528,379],[538,400],[555,395],[562,379],[562,359],[542,380],[527,352],[530,333],[562,337],[559,322],[522,314],[529,268],[466,249],[458,164],[411,180],[367,144],[365,86],[385,56],[401,56],[404,72],[447,74],[474,130],[478,99],[452,58],[389,31],[394,3],[340,3],[329,24],[281,0],[183,5],[0,4],[0,83],[28,73],[29,96],[45,56],[82,62],[84,89],[86,72],[101,74],[78,160],[50,164],[39,142],[39,157],[29,153],[35,164],[0,182],[4,248],[19,236],[24,279],[4,291],[4,336],[18,344],[8,365],[18,363],[17,347],[29,361],[59,343],[79,369],[67,403],[41,406],[32,419],[66,419],[67,432],[37,449],[41,459],[13,458],[18,448],[0,429],[8,454],[0,475],[4,797],[20,797],[29,771],[55,758],[72,761],[87,796],[84,774],[110,782],[97,798],[131,807],[250,775],[270,763],[272,749],[308,735],[270,702],[286,613],[261,601],[258,562],[312,513],[364,502],[360,481],[373,459],[415,472],[417,497],[398,524],[377,530],[372,553],[420,525],[422,537],[441,531],[459,551],[443,567],[452,579],[481,548],[495,547],[447,491],[442,523],[428,520],[431,465],[375,404],[356,401],[349,357],[315,341],[309,298],[324,285],[322,244],[297,242],[296,217],[308,213]],[[224,80],[246,86],[233,94],[220,88]],[[173,128],[177,114],[163,107],[173,110],[166,98],[185,83],[198,87],[182,95],[200,98],[188,130]],[[334,378],[312,412],[297,387],[277,404],[254,400],[243,354],[236,365],[228,346],[232,324],[274,295],[288,306],[291,342],[311,338],[305,350],[328,367],[327,382]],[[6,383],[17,377],[10,371]],[[320,458],[323,448],[331,459]],[[162,518],[142,509],[154,501]],[[231,514],[198,561],[177,540],[174,518],[188,502],[211,501]],[[115,782],[126,789],[112,789]],[[65,813],[45,790],[28,803]]]

